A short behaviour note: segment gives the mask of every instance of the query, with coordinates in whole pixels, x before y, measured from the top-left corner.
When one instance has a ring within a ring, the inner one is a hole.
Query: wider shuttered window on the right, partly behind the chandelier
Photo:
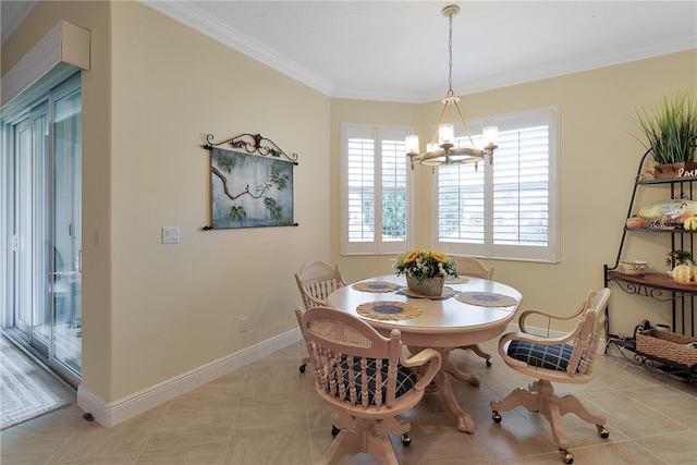
[[[559,260],[558,113],[547,108],[468,123],[473,135],[498,125],[499,148],[493,164],[438,168],[438,248],[484,258]],[[469,139],[457,143],[466,147]]]

